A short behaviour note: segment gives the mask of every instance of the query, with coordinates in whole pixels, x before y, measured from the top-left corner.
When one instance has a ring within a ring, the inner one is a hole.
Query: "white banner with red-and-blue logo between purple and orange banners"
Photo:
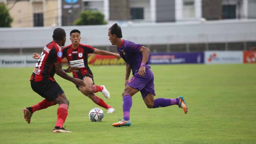
[[[241,64],[243,51],[205,51],[206,64]]]

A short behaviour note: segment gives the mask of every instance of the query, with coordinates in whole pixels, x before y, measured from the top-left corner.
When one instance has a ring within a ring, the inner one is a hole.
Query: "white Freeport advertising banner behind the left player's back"
[[[0,55],[0,67],[34,67],[38,60],[30,55]]]

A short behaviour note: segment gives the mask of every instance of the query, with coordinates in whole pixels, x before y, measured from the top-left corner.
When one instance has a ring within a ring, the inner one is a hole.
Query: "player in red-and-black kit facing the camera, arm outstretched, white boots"
[[[94,94],[96,92],[102,92],[107,99],[110,98],[110,93],[104,85],[99,86],[94,84],[93,74],[88,66],[87,59],[88,54],[90,53],[100,55],[113,55],[117,58],[120,58],[121,56],[117,53],[99,50],[89,45],[80,44],[80,34],[81,32],[76,29],[70,32],[70,40],[72,44],[63,48],[62,58],[66,57],[72,67],[80,67],[78,71],[73,71],[73,77],[83,80],[83,82],[86,83],[87,86],[81,88],[76,85],[78,90],[80,90],[84,95],[88,96],[97,105],[108,109],[107,113],[112,113],[115,111],[114,108],[106,104],[104,100]]]

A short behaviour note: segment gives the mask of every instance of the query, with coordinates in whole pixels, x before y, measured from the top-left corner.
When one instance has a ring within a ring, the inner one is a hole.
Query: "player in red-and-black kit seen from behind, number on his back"
[[[86,84],[82,80],[66,74],[66,72],[71,73],[74,70],[79,69],[78,67],[62,69],[62,48],[60,46],[64,46],[66,42],[65,30],[56,28],[52,38],[53,41],[47,44],[44,47],[41,56],[37,57],[39,60],[36,63],[30,78],[31,88],[45,99],[34,106],[24,108],[24,118],[29,124],[31,116],[35,111],[59,104],[57,110],[58,118],[52,132],[70,133],[70,131],[63,128],[63,123],[68,115],[69,101],[59,84],[55,81],[54,74],[57,73],[60,77],[69,80],[80,87],[85,87]],[[33,57],[34,56],[35,54]]]

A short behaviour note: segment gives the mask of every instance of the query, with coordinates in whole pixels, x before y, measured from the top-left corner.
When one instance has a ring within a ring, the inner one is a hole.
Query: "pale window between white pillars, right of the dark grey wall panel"
[[[183,0],[183,18],[195,17],[195,1]]]

